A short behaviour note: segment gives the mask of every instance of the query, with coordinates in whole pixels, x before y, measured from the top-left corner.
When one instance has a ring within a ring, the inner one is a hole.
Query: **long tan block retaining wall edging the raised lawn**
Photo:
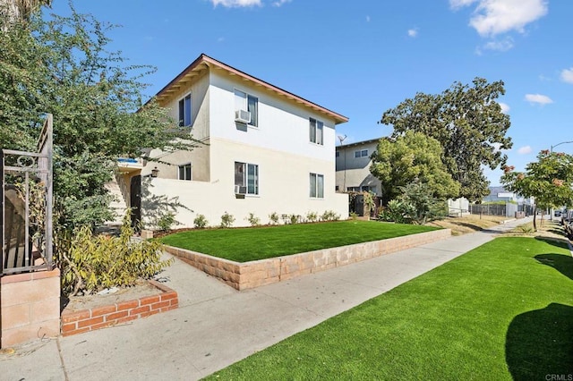
[[[166,246],[166,251],[240,291],[414,248],[433,241],[444,240],[449,236],[451,236],[449,229],[440,229],[388,240],[356,243],[244,263],[171,246]]]

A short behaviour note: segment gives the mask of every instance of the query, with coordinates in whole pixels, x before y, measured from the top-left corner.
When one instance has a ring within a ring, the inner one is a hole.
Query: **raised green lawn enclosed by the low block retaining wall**
[[[385,240],[435,229],[413,224],[337,221],[244,229],[192,230],[167,235],[161,241],[169,246],[214,257],[248,262],[353,243]]]

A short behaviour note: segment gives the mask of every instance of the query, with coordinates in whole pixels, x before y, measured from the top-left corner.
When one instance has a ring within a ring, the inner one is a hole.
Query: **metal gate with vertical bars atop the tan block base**
[[[47,114],[38,152],[0,150],[0,275],[54,268],[52,121]]]

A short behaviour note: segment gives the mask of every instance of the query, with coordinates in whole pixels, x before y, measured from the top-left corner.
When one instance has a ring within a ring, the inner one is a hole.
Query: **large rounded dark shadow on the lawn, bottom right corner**
[[[572,348],[573,307],[551,303],[513,318],[506,336],[505,357],[514,380],[568,377],[573,376]]]

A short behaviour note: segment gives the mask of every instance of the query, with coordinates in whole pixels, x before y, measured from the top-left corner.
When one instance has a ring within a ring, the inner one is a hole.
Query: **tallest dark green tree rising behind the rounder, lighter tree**
[[[418,93],[387,110],[381,123],[393,125],[395,138],[418,131],[440,141],[443,163],[461,185],[459,195],[476,201],[489,193],[483,166],[504,165],[507,156],[500,150],[512,143],[505,136],[509,116],[496,102],[505,94],[503,82],[475,78],[473,83],[455,82],[439,95]]]

